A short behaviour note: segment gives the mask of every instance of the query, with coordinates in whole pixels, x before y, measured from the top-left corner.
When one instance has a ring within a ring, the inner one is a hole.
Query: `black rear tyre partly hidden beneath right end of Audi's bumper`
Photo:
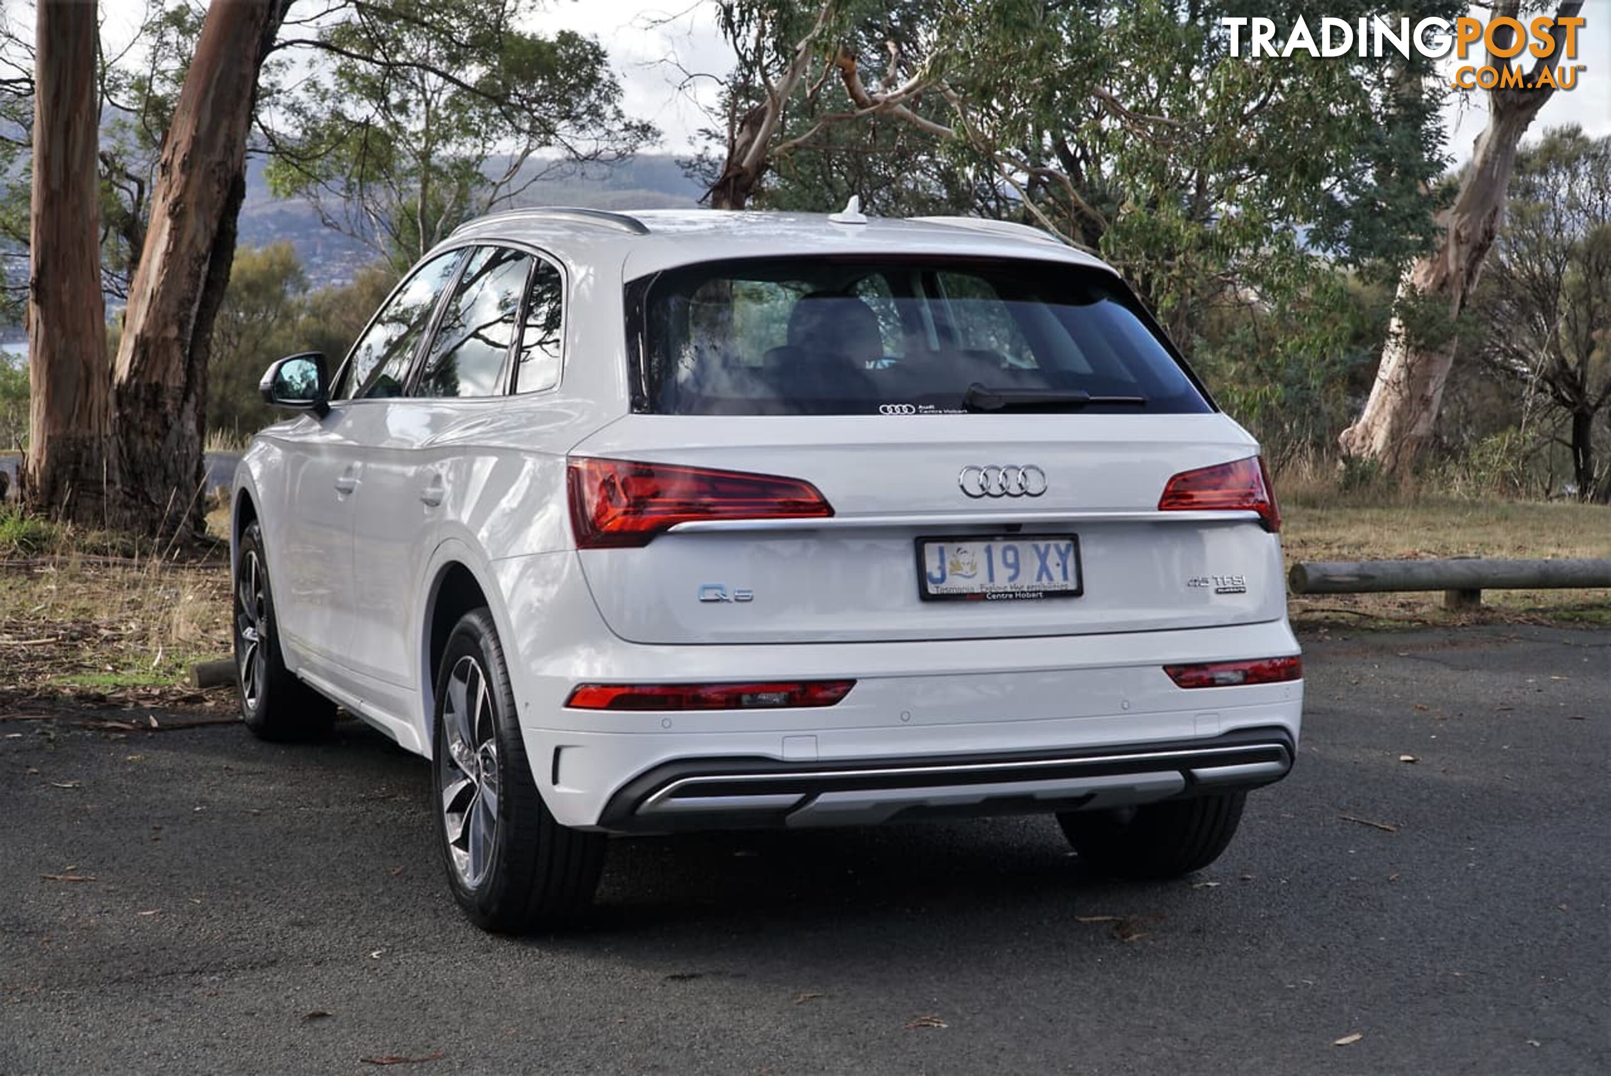
[[[1158,881],[1220,859],[1242,821],[1247,793],[1057,815],[1079,859],[1115,878]]]

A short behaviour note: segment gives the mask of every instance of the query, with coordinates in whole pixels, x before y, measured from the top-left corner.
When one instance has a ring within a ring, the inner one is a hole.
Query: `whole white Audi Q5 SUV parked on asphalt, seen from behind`
[[[245,722],[429,757],[488,929],[580,912],[611,833],[1044,812],[1173,876],[1292,765],[1258,446],[1033,229],[503,213],[263,393]]]

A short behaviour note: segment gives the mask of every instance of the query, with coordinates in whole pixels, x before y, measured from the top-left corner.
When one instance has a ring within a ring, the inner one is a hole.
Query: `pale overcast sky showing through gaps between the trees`
[[[142,6],[142,0],[101,0],[111,26],[129,26]],[[1485,6],[1477,14],[1485,14]],[[1590,0],[1585,6],[1587,26],[1579,34],[1574,63],[1587,64],[1587,71],[1579,72],[1577,89],[1550,98],[1529,135],[1569,122],[1595,137],[1611,134],[1611,0]],[[709,0],[662,0],[657,5],[551,0],[533,29],[574,29],[603,42],[620,76],[627,113],[652,121],[662,132],[657,148],[670,153],[688,153],[696,145],[696,132],[709,124],[688,90],[706,103],[714,100],[709,79],[694,77],[680,90],[681,69],[694,76],[723,74],[731,63]],[[1456,64],[1448,60],[1445,66],[1453,72]],[[1482,130],[1487,95],[1452,93],[1445,111],[1448,151],[1458,163],[1471,156],[1471,143]]]

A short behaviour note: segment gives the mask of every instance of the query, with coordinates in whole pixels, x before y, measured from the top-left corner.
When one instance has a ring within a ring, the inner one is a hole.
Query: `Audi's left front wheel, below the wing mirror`
[[[256,520],[240,535],[234,591],[235,686],[246,728],[277,743],[322,736],[335,722],[335,704],[285,667]]]

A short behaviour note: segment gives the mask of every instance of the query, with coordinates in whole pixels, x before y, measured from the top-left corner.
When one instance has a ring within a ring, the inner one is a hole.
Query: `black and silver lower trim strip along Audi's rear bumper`
[[[1292,768],[1286,728],[1052,754],[859,759],[677,759],[623,784],[599,828],[617,833],[875,825],[1047,813],[1258,788]]]

